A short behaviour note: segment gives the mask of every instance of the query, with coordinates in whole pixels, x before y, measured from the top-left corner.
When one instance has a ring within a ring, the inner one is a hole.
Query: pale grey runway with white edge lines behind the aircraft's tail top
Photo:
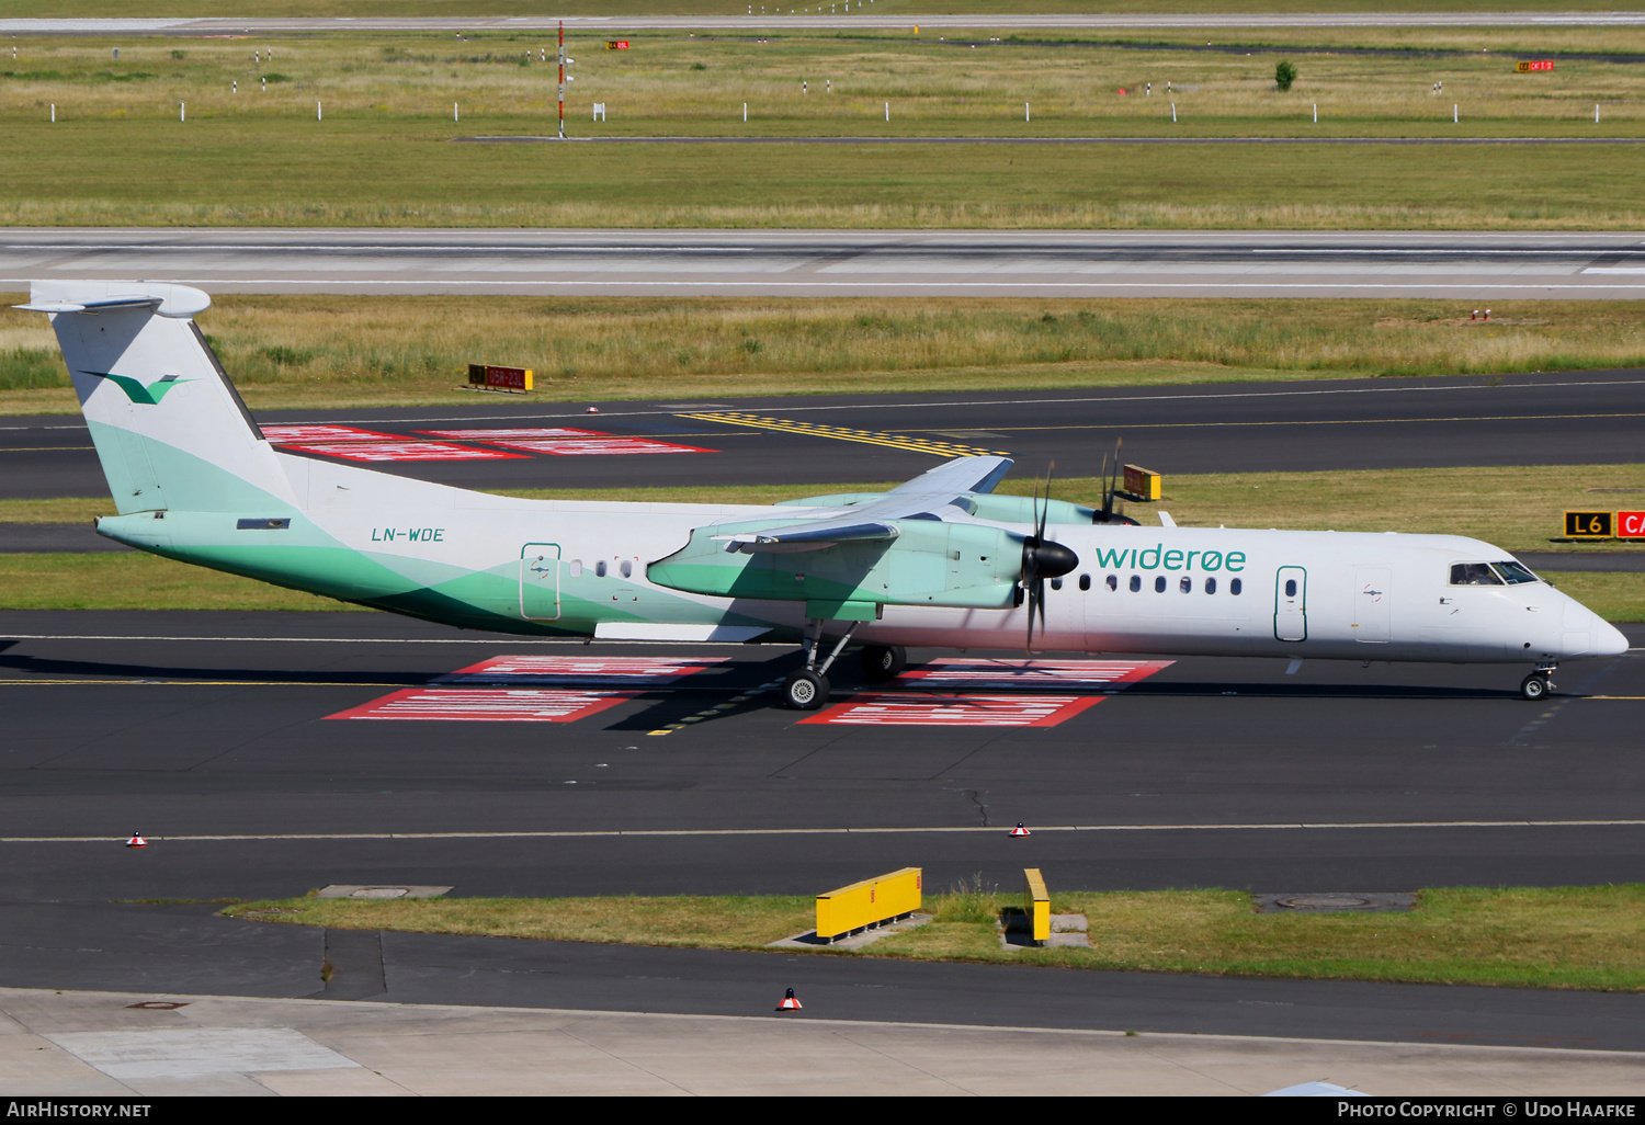
[[[212,293],[1638,299],[1638,234],[12,229],[0,286]]]

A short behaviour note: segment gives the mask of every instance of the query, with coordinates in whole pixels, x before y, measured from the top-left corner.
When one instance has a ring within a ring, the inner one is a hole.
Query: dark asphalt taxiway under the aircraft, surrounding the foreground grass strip
[[[1645,854],[1637,651],[1564,669],[1541,707],[1508,668],[1184,660],[1048,729],[796,725],[755,699],[655,735],[793,655],[693,650],[732,660],[572,724],[408,724],[326,715],[508,651],[678,650],[377,613],[8,612],[0,637],[5,985],[313,995],[321,931],[128,900],[329,883],[814,893],[915,863],[933,888],[1041,867],[1069,888],[1392,891],[1632,882]],[[1017,821],[1035,834],[1008,839]],[[120,847],[132,831],[150,847]],[[798,985],[824,1018],[1645,1049],[1637,997],[410,934],[341,949],[332,995],[388,1000],[735,1013]]]

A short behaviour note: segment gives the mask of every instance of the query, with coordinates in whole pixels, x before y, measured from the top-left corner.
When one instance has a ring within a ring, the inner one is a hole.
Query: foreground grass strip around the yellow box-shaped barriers
[[[1050,873],[1054,882],[1054,872]],[[1645,885],[1423,890],[1410,913],[1258,914],[1242,891],[1053,893],[1082,913],[1091,949],[1005,951],[1018,896],[928,895],[934,921],[860,952],[824,956],[1022,962],[1064,969],[1216,972],[1536,988],[1645,990]],[[222,913],[301,926],[494,934],[548,941],[760,949],[814,923],[799,896],[291,898]],[[793,952],[785,949],[785,954]]]

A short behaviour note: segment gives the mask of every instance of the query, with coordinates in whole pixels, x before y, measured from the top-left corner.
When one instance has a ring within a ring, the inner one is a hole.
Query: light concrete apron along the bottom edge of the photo
[[[7,1095],[1249,1095],[1318,1079],[1637,1097],[1645,1054],[0,988]]]

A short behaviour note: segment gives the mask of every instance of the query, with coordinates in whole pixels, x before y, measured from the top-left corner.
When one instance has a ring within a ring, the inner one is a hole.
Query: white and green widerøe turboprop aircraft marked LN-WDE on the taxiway
[[[164,558],[462,628],[799,643],[818,707],[847,640],[903,646],[1530,664],[1627,638],[1499,548],[1444,535],[1142,528],[992,495],[959,457],[885,493],[776,507],[513,500],[270,446],[181,285],[36,283],[118,515]],[[1035,637],[1038,627],[1040,635]]]

